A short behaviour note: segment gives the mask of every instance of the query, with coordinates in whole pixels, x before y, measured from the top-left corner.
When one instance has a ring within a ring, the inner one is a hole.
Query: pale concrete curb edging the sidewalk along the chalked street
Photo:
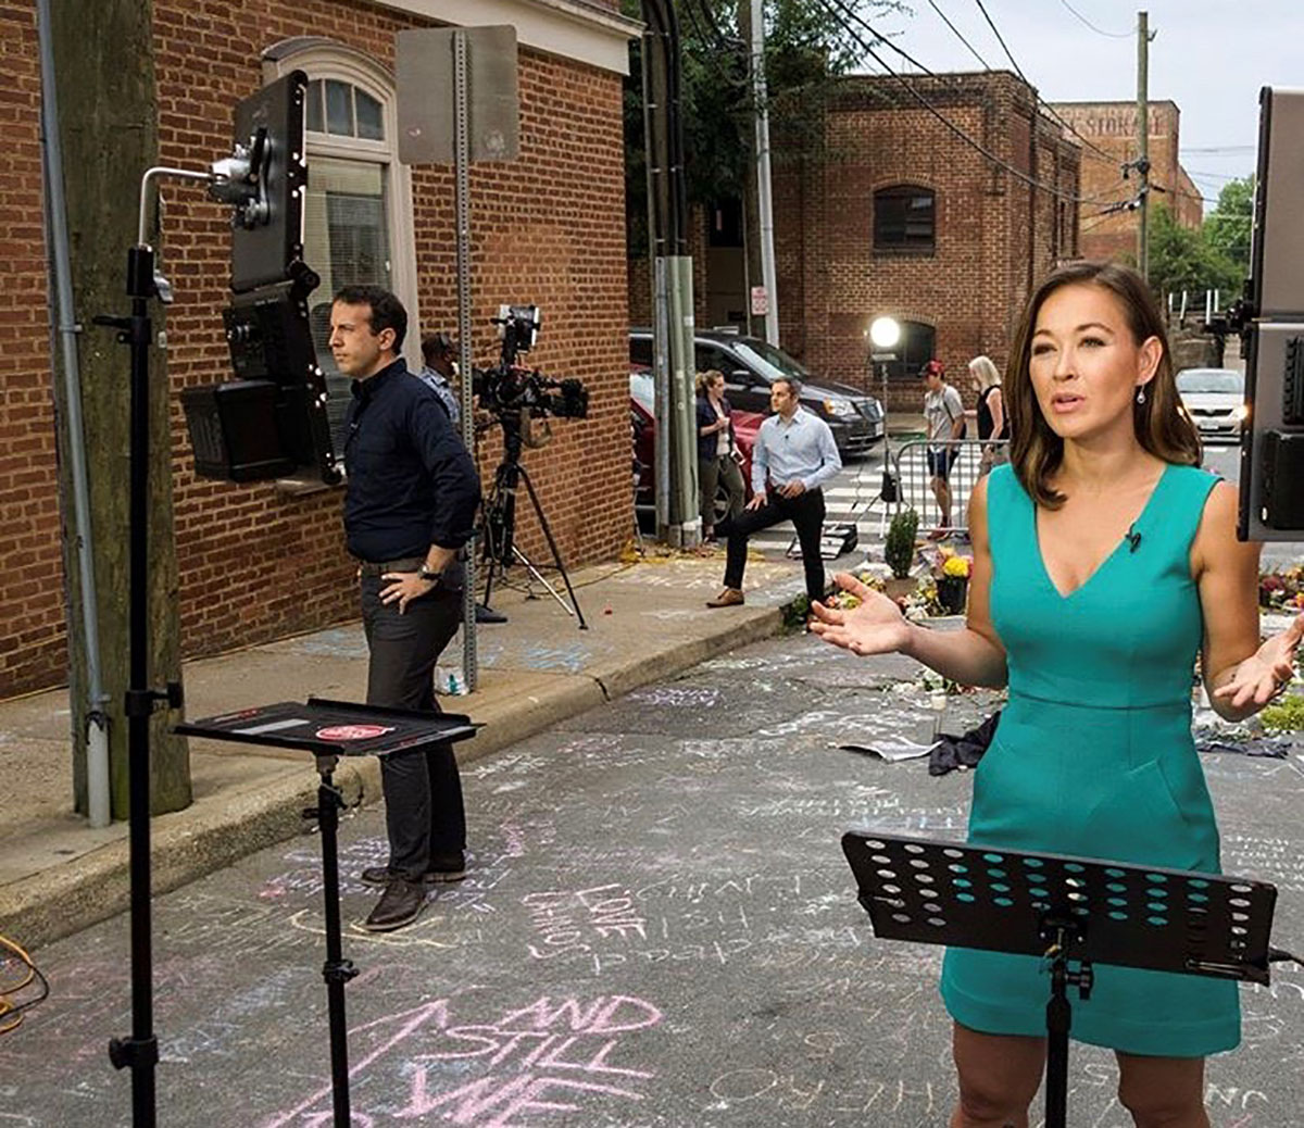
[[[466,764],[509,747],[549,725],[587,712],[649,682],[673,677],[709,657],[772,638],[784,630],[784,608],[769,608],[747,621],[721,625],[705,638],[659,651],[622,666],[597,669],[510,705],[488,709],[485,725],[456,746]],[[150,824],[150,891],[167,893],[237,862],[257,850],[304,833],[304,809],[317,805],[318,777],[296,762],[246,790],[219,790],[184,811],[159,815]],[[381,798],[381,768],[374,756],[347,758],[334,776],[347,807]],[[106,921],[130,904],[130,846],[123,837],[77,859],[8,884],[0,891],[0,934],[21,935],[40,948]]]

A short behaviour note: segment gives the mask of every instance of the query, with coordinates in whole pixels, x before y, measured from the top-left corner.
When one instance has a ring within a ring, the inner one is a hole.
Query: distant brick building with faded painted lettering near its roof
[[[1078,243],[1084,258],[1136,260],[1134,210],[1119,207],[1136,198],[1134,170],[1123,177],[1123,166],[1137,158],[1136,102],[1060,102],[1054,106],[1084,140],[1082,197]],[[1151,102],[1146,147],[1150,158],[1151,203],[1172,213],[1183,227],[1196,228],[1204,218],[1200,190],[1178,159],[1181,111],[1175,102]],[[1118,210],[1114,210],[1118,209]]]

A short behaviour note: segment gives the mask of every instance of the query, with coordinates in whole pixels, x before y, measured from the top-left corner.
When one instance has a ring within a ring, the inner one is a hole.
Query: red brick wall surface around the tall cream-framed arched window
[[[0,0],[3,3],[3,0]],[[262,82],[261,52],[296,35],[326,35],[393,68],[394,33],[413,21],[378,7],[329,0],[158,0],[155,68],[162,164],[205,167],[231,143],[236,100]],[[37,576],[60,574],[59,509],[50,396],[38,149],[34,21],[27,5],[0,7],[5,91],[0,120],[0,248],[8,292],[35,295],[0,313],[0,698],[57,683],[65,668],[64,600]],[[531,361],[582,378],[589,419],[553,423],[554,439],[527,451],[567,565],[614,556],[632,526],[626,366],[623,141],[619,76],[522,50],[522,154],[472,173],[473,352],[497,357],[488,318],[501,301],[544,306]],[[422,322],[454,325],[452,180],[413,170],[416,265]],[[173,489],[183,644],[214,653],[356,616],[343,549],[340,490],[306,497],[271,485],[197,479],[180,390],[230,378],[222,336],[228,226],[193,186],[164,186],[162,256],[176,292],[166,326],[173,416]],[[416,342],[408,356],[419,360]],[[486,489],[502,453],[481,443]],[[527,507],[528,509],[528,507]],[[17,529],[14,533],[13,531]],[[518,535],[542,559],[532,515]]]

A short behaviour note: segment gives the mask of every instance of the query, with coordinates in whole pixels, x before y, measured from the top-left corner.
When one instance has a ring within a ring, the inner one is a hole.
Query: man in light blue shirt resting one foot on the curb
[[[769,385],[769,416],[756,433],[751,451],[751,501],[737,519],[721,528],[729,533],[725,587],[708,608],[732,608],[743,601],[742,572],[747,566],[747,537],[781,520],[790,520],[802,546],[806,595],[824,599],[824,561],[819,554],[824,528],[823,485],[842,468],[833,432],[801,406],[802,387],[790,377]]]

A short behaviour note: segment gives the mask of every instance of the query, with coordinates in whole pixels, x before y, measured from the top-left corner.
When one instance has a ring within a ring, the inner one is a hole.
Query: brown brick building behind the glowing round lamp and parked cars
[[[1077,254],[1080,146],[1004,72],[910,76],[962,141],[895,78],[841,80],[823,160],[775,181],[781,343],[815,373],[865,386],[870,322],[904,329],[889,408],[919,409],[915,373],[939,357],[1004,366],[1035,279]],[[776,142],[781,143],[781,142]],[[874,391],[882,385],[872,381]]]

